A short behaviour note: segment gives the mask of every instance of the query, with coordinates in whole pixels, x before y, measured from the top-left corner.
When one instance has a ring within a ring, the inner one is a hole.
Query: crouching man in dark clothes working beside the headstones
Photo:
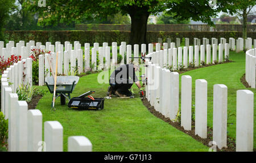
[[[108,96],[112,94],[118,95],[119,97],[130,97],[134,94],[133,83],[139,88],[140,96],[143,97],[144,92],[142,90],[141,84],[139,83],[138,77],[135,72],[139,71],[139,65],[135,64],[123,64],[119,66],[110,75]]]

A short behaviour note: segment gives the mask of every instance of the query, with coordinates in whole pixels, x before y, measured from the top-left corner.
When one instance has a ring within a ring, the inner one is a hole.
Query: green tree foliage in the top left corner
[[[5,30],[6,20],[15,7],[15,0],[0,0],[0,41],[3,40],[3,31]]]

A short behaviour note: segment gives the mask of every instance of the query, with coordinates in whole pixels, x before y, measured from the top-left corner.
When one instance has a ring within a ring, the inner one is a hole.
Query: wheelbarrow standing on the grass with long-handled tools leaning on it
[[[70,94],[75,89],[77,82],[79,81],[78,76],[58,76],[56,82],[56,98],[60,97],[60,104],[65,105],[66,98],[70,101]],[[53,77],[46,77],[45,81],[50,93],[54,90],[54,79]],[[53,96],[52,96],[53,98]]]

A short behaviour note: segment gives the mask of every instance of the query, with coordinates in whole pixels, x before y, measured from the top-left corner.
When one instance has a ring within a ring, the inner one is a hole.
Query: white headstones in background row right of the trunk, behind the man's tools
[[[161,68],[172,66],[173,70],[180,69],[181,66],[188,68],[189,64],[195,64],[196,67],[203,64],[215,64],[217,62],[217,45],[213,44],[212,54],[211,46],[207,44],[206,48],[206,60],[205,60],[205,46],[195,45],[189,47],[178,47],[175,48],[175,43],[171,43],[171,48],[167,49],[166,43],[163,45],[163,50],[160,50],[160,44],[156,44],[156,52],[148,53],[148,56],[152,57],[151,61],[153,64],[159,64]],[[195,49],[195,50],[194,50]],[[224,56],[223,56],[224,51]],[[195,54],[195,56],[193,55]],[[211,57],[212,56],[212,57]],[[199,60],[200,57],[200,60]],[[229,44],[225,43],[218,44],[218,62],[222,62],[225,58],[229,58]],[[212,61],[211,61],[212,58]]]

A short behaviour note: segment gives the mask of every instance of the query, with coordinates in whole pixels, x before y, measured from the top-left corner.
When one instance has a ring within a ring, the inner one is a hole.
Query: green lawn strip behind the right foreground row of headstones
[[[218,53],[217,53],[218,56]],[[228,86],[228,136],[236,139],[236,97],[237,90],[247,89],[240,82],[240,78],[245,73],[245,53],[230,52],[230,59],[234,62],[227,64],[218,64],[206,68],[191,70],[180,74],[180,88],[181,76],[189,75],[192,77],[192,104],[195,105],[195,81],[196,79],[205,79],[208,82],[208,126],[213,126],[213,85],[225,84]],[[254,112],[256,106],[256,90],[249,89],[254,93]],[[254,119],[256,119],[254,114]],[[256,134],[255,134],[254,120],[254,149],[256,148]]]

